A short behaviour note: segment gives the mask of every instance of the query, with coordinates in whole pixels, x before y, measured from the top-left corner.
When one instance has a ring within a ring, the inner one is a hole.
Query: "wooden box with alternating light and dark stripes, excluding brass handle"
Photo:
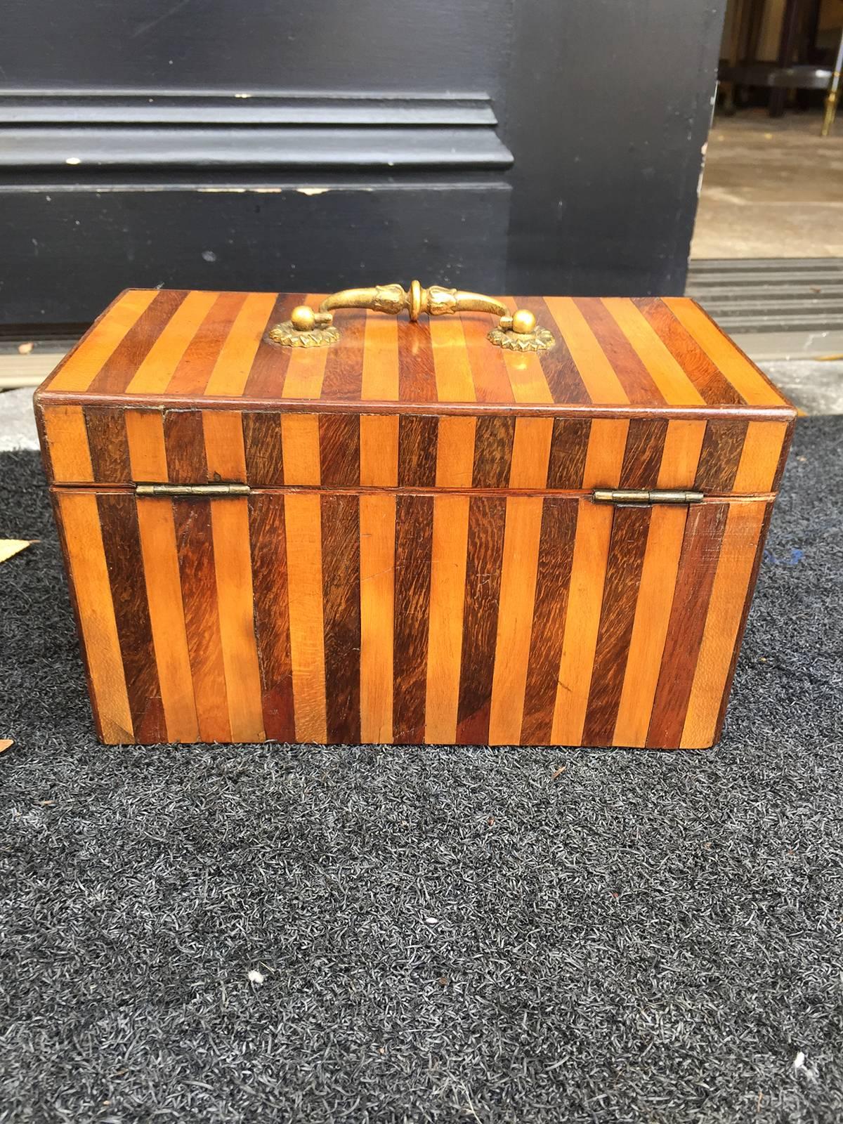
[[[271,343],[302,300],[129,290],[37,392],[100,738],[715,742],[795,415],[758,369],[686,299],[522,300],[541,355]]]

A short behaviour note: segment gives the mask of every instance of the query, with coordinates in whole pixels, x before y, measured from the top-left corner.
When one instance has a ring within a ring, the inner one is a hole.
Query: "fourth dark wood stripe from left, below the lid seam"
[[[360,742],[360,498],[321,497],[328,741]]]

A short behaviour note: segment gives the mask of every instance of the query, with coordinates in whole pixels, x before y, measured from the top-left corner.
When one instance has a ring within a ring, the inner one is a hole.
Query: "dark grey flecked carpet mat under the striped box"
[[[839,1122],[842,438],[676,754],[98,746],[3,454],[0,1122]]]

